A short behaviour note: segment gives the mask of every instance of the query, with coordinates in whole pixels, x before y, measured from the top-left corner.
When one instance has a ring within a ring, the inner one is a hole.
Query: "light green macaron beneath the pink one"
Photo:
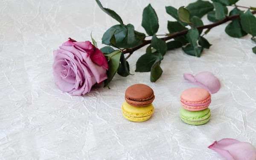
[[[189,125],[203,125],[210,120],[211,111],[206,108],[202,111],[187,111],[180,108],[180,119]]]

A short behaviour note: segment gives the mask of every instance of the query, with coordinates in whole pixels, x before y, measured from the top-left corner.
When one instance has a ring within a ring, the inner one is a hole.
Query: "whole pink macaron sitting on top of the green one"
[[[180,102],[188,111],[202,111],[209,107],[211,94],[204,88],[189,88],[181,93]]]

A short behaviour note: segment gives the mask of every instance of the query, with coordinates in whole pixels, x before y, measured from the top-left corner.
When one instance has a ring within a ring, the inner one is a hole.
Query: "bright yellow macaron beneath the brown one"
[[[154,113],[154,106],[151,104],[145,107],[134,107],[127,102],[122,104],[123,116],[133,122],[143,122],[148,120]]]

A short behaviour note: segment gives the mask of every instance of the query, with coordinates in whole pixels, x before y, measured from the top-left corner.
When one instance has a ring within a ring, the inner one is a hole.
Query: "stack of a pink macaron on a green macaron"
[[[202,125],[211,117],[208,108],[211,103],[211,94],[203,88],[190,88],[184,90],[180,96],[182,108],[180,119],[190,125]]]

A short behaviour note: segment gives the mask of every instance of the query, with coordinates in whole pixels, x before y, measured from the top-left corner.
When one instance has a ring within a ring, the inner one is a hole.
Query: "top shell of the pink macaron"
[[[181,93],[180,100],[186,103],[192,102],[207,102],[207,99],[211,99],[211,95],[208,90],[203,88],[189,88]]]

